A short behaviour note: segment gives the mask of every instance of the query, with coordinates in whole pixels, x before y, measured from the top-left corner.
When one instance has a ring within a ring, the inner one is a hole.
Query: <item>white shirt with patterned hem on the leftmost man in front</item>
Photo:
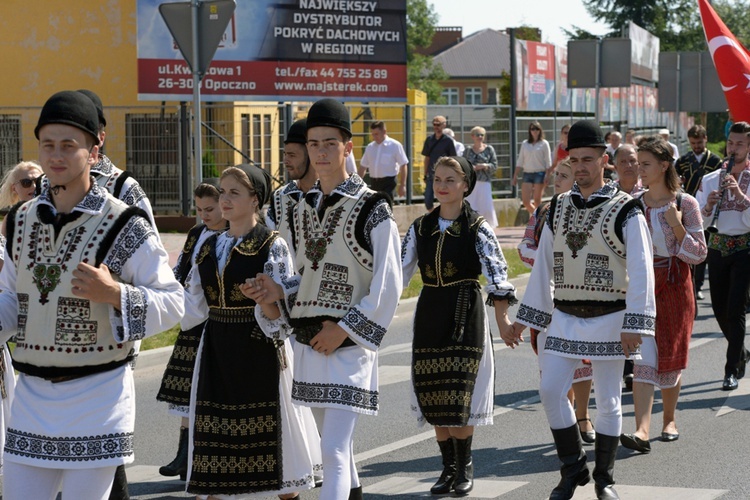
[[[104,206],[103,196],[111,195],[94,185],[73,211],[99,213]],[[32,202],[48,199],[43,191]],[[143,221],[142,227],[146,226],[150,229]],[[129,236],[125,231],[118,239]],[[26,254],[21,260],[26,265]],[[185,312],[182,286],[175,279],[169,256],[155,232],[137,247],[126,247],[116,241],[103,262],[120,280],[121,313],[110,306],[110,328],[115,339],[136,340],[177,324]],[[0,271],[2,342],[17,327],[16,278],[13,260],[6,259]],[[52,304],[45,307],[55,308]],[[34,314],[31,306],[29,314]],[[5,460],[8,462],[58,469],[131,463],[135,430],[132,368],[126,364],[59,383],[21,374],[7,424]]]

